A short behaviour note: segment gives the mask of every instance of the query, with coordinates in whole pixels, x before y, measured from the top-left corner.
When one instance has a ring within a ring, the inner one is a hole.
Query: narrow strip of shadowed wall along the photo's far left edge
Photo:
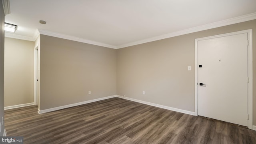
[[[0,2],[0,122],[4,117],[4,9]],[[0,136],[4,135],[4,124]]]

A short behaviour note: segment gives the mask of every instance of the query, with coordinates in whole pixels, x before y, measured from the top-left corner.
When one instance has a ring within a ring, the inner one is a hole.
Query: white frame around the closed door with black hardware
[[[249,30],[242,30],[238,32],[231,32],[227,34],[220,34],[216,36],[208,36],[204,38],[196,38],[195,39],[195,116],[198,116],[198,41],[200,40],[207,40],[212,38],[220,38],[225,36],[232,36],[236,34],[244,34],[248,33],[248,128],[253,129],[252,124],[252,109],[253,109],[253,101],[252,101],[252,29]]]

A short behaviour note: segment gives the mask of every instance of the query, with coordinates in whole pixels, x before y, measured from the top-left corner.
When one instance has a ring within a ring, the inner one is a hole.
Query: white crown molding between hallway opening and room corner
[[[48,30],[38,29],[38,31],[39,31],[40,34],[44,34],[44,35],[47,35],[47,36],[54,36],[54,37],[57,37],[57,38],[73,40],[73,41],[76,41],[76,42],[83,42],[83,43],[86,43],[86,44],[93,44],[93,45],[96,45],[96,46],[104,46],[104,47],[107,47],[107,48],[116,49],[116,46],[112,46],[112,45],[109,45],[109,44],[104,44],[104,43],[101,43],[101,42],[86,40],[86,39],[83,39],[83,38],[69,36],[69,35],[66,35],[66,34],[60,34],[60,33],[57,33],[57,32],[51,32],[51,31],[48,31]]]

